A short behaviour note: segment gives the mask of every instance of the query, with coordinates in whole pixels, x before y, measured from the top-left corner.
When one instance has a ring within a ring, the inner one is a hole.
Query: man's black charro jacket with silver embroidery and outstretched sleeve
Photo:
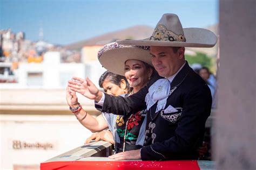
[[[146,87],[129,97],[105,94],[103,112],[130,115],[146,109],[145,96],[149,87],[163,77],[154,76]],[[176,112],[156,111],[157,104],[147,110],[147,125],[142,160],[197,159],[197,149],[204,137],[205,122],[211,113],[211,91],[188,63],[174,77],[171,95],[165,108]]]

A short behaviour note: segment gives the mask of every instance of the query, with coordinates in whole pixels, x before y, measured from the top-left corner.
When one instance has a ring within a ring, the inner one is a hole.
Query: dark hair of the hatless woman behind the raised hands
[[[126,90],[129,93],[130,91],[130,86],[129,83],[127,82],[125,76],[114,74],[112,72],[106,71],[104,72],[100,77],[99,77],[99,87],[103,88],[102,84],[105,80],[109,80],[111,83],[116,84],[117,86],[120,86],[121,80],[124,79],[126,83]]]

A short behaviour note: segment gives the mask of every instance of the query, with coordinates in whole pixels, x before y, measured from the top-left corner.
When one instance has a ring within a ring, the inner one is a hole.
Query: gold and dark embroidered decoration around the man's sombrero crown
[[[168,30],[163,24],[159,24],[150,37],[153,41],[178,41],[186,42],[184,34],[176,34],[171,30]]]

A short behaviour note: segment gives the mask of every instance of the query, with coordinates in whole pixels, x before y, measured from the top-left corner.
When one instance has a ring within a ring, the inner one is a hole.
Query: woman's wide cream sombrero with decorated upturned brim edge
[[[149,46],[126,46],[112,42],[99,49],[98,60],[110,72],[124,75],[124,65],[127,60],[140,60],[152,66],[149,48]]]

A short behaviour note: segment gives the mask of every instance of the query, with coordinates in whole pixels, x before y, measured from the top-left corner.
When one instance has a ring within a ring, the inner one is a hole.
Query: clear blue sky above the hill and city
[[[155,27],[163,13],[176,13],[183,27],[218,23],[218,0],[0,0],[0,30],[67,45],[135,25]]]

